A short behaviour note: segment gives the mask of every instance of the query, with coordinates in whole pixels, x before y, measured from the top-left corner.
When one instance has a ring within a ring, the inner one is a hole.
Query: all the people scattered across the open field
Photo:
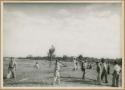
[[[73,58],[73,70],[78,70],[78,67],[80,66],[81,71],[83,72],[82,79],[85,79],[86,69],[89,67],[92,68],[91,64],[88,64],[86,60],[77,60],[76,58]],[[64,66],[64,64],[61,62],[61,60],[56,60],[55,62],[55,69],[54,69],[54,80],[53,84],[60,84],[60,70],[61,66]],[[35,63],[34,67],[36,69],[39,69],[38,62]],[[8,66],[8,74],[7,78],[15,78],[16,77],[16,62],[14,58],[11,58]],[[110,74],[110,64],[106,63],[104,59],[101,59],[100,61],[96,62],[96,72],[97,72],[97,82],[98,84],[101,84],[103,82],[103,79],[105,78],[105,83],[108,83],[108,74]],[[112,73],[112,86],[118,87],[119,86],[119,77],[120,77],[121,67],[118,65],[117,61],[114,61],[114,68]]]

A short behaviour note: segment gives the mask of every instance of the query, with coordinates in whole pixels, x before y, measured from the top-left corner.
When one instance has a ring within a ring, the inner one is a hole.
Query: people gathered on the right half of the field
[[[92,65],[87,62],[87,60],[77,60],[77,58],[73,58],[74,68],[73,70],[78,70],[78,63],[81,66],[81,71],[83,72],[82,79],[85,79],[86,69],[91,69]],[[104,80],[104,83],[108,83],[108,75],[110,72],[109,62],[106,62],[104,59],[96,62],[96,72],[97,72],[97,83],[101,84]],[[112,73],[112,86],[118,87],[119,86],[119,77],[121,72],[121,67],[118,65],[117,61],[114,61],[113,65],[113,73]]]

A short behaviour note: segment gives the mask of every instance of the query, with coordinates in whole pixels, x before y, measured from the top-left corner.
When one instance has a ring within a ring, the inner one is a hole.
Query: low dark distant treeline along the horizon
[[[10,57],[4,57],[4,58],[10,58]],[[41,56],[32,56],[32,55],[28,55],[27,57],[16,57],[18,59],[29,59],[29,60],[50,60],[48,56],[44,56],[44,57],[41,57]],[[53,56],[52,57],[52,60],[56,60],[56,59],[59,59],[61,61],[65,61],[65,62],[70,62],[73,60],[73,56],[67,56],[67,55],[64,55],[62,57],[57,57],[57,56]],[[86,60],[87,62],[97,62],[97,61],[100,61],[101,59],[99,58],[94,58],[94,57],[85,57],[85,56],[82,56],[82,55],[79,55],[77,57],[75,57],[77,60]],[[109,63],[113,63],[114,61],[117,61],[119,64],[122,64],[122,58],[115,58],[115,59],[111,59],[111,58],[103,58],[106,62],[109,62]]]

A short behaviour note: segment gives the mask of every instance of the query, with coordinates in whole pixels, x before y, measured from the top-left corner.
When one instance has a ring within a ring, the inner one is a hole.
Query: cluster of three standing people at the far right
[[[119,86],[119,77],[121,72],[121,67],[118,65],[117,61],[114,61],[113,63],[113,73],[112,73],[112,86],[118,87]],[[106,63],[104,59],[101,59],[101,61],[96,62],[97,68],[97,81],[99,84],[103,81],[105,78],[105,83],[108,83],[108,75],[110,74],[110,64]]]

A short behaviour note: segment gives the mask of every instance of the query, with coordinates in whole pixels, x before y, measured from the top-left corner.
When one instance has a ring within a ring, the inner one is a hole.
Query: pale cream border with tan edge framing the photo
[[[122,87],[4,87],[3,86],[3,6],[5,3],[122,3],[122,17],[121,17],[121,51],[122,51]],[[112,89],[112,90],[121,90],[121,89],[125,89],[124,87],[124,75],[125,75],[125,71],[124,71],[124,0],[111,0],[111,1],[105,1],[105,0],[87,0],[87,1],[1,1],[1,79],[0,79],[0,86],[1,89]]]

